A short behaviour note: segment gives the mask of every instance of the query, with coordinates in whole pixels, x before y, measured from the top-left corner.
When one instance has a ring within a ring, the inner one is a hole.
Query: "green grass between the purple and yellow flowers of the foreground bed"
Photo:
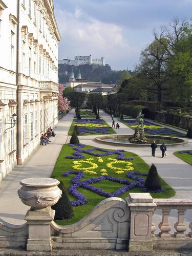
[[[92,148],[91,146],[86,146],[87,148]],[[82,148],[82,149],[85,149]],[[69,175],[68,177],[63,177],[62,174],[65,172],[69,172],[70,170],[74,170],[72,168],[72,166],[74,165],[72,162],[76,161],[75,159],[67,159],[65,158],[66,156],[73,156],[73,152],[74,149],[72,146],[69,146],[69,144],[63,145],[61,152],[59,154],[59,157],[57,159],[57,162],[55,164],[53,173],[52,173],[52,178],[55,178],[57,180],[62,180],[63,183],[65,184],[66,188],[69,189],[69,187],[71,186],[71,180],[73,177],[75,177],[75,175]],[[101,153],[99,151],[95,151],[95,153]],[[126,158],[130,158],[130,157],[134,157],[134,160],[130,161],[133,163],[133,167],[135,171],[139,171],[140,173],[147,173],[149,166],[136,154],[131,153],[131,152],[124,152],[125,153],[125,157]],[[84,155],[86,158],[83,159],[79,159],[79,160],[86,160],[88,158],[92,158],[92,160],[90,160],[91,162],[94,162],[98,165],[98,167],[96,169],[94,169],[94,171],[97,173],[96,175],[90,175],[90,174],[84,174],[85,177],[82,180],[87,180],[90,178],[96,178],[96,177],[100,177],[101,173],[100,173],[100,169],[104,168],[107,170],[108,175],[109,176],[113,176],[119,179],[123,179],[123,180],[127,180],[129,178],[126,177],[126,173],[124,172],[123,174],[117,175],[115,174],[115,170],[110,169],[109,167],[106,166],[106,163],[111,162],[112,160],[108,160],[109,158],[113,158],[116,159],[117,155],[113,154],[113,155],[109,155],[109,156],[103,156],[102,163],[98,162],[98,158],[95,156],[91,156],[87,153],[81,153],[82,155]],[[82,162],[82,167],[89,167],[90,165],[88,163],[83,163]],[[124,168],[125,164],[124,163],[117,163],[114,166],[116,167],[120,167],[120,168]],[[143,176],[142,176],[143,177]],[[143,177],[145,179],[145,177]],[[129,179],[130,181],[133,181],[132,179]],[[164,188],[164,192],[163,193],[151,193],[153,198],[170,198],[173,197],[175,195],[175,190],[170,187],[165,181],[163,181],[161,179],[161,184],[162,187]],[[123,184],[117,183],[117,182],[113,182],[113,181],[109,181],[109,180],[103,180],[97,183],[92,184],[95,187],[101,188],[105,191],[109,191],[109,192],[113,192],[116,189],[123,187]],[[74,210],[74,217],[72,219],[69,220],[63,220],[63,221],[56,221],[57,224],[59,225],[69,225],[72,223],[75,223],[77,221],[79,221],[80,219],[82,219],[84,216],[86,216],[99,202],[101,202],[102,200],[105,199],[105,197],[100,196],[96,193],[94,193],[93,191],[87,190],[85,188],[78,188],[78,191],[80,193],[82,193],[87,199],[88,202],[86,205],[81,205],[81,206],[74,206],[73,210]],[[138,188],[134,188],[130,190],[132,193],[142,193],[142,190],[138,187]],[[129,192],[127,191],[125,194],[121,195],[121,198],[125,199],[125,197],[129,196]],[[76,200],[76,198],[74,198],[72,195],[69,194],[69,198],[70,200]]]

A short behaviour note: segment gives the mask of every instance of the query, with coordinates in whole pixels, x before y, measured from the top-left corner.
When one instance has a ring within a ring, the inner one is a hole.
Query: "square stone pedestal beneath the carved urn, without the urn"
[[[25,220],[29,225],[27,240],[28,251],[51,251],[50,224],[54,220],[55,210],[47,207],[43,210],[28,210]]]

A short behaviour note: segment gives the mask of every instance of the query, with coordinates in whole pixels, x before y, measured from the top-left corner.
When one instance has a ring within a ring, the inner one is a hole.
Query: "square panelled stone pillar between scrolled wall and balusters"
[[[129,251],[152,251],[152,217],[157,205],[149,193],[130,193],[126,202],[131,211]]]

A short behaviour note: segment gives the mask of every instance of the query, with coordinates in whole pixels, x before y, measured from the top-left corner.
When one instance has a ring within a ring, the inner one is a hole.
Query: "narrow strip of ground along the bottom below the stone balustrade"
[[[0,249],[0,255],[4,256],[185,256],[192,255],[192,251],[167,251],[167,250],[154,250],[153,252],[126,252],[115,250],[53,250],[52,252],[27,252],[25,250],[14,249]]]

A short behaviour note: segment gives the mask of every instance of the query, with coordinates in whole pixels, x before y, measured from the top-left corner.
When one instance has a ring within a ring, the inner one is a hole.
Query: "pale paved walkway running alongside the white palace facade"
[[[46,146],[38,146],[37,150],[21,165],[16,166],[12,172],[1,181],[0,186],[0,218],[12,223],[25,223],[24,217],[29,209],[18,198],[17,190],[21,187],[19,181],[32,177],[50,177],[60,153],[61,147],[66,143],[68,131],[74,118],[72,110],[63,117],[54,128],[55,137]]]

